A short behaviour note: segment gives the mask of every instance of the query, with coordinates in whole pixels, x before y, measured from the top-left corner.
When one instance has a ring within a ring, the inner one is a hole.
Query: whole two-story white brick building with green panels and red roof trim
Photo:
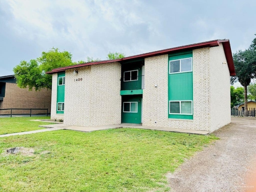
[[[52,119],[214,131],[230,119],[229,40],[54,69]],[[64,112],[65,104],[65,112]]]

